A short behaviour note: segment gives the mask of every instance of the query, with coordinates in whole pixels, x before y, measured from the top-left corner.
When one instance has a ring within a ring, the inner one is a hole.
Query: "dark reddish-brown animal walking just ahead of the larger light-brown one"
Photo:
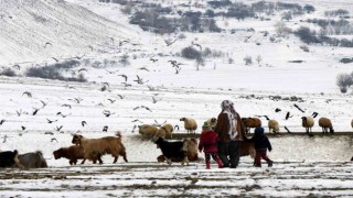
[[[84,147],[81,145],[72,145],[68,147],[61,147],[56,151],[53,152],[53,155],[55,157],[55,160],[58,160],[61,157],[65,157],[68,161],[69,165],[76,165],[77,160],[83,158],[81,164],[85,163],[85,153],[84,153]],[[92,160],[94,162],[94,164],[96,163],[97,160]]]

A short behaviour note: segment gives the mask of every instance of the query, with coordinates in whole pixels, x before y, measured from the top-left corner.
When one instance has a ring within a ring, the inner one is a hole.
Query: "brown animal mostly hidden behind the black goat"
[[[186,138],[183,140],[182,151],[186,152],[189,162],[199,161],[197,156],[197,140],[194,138]],[[157,157],[158,162],[164,162],[167,157],[164,155],[159,155]],[[171,157],[171,162],[182,162],[181,157]]]

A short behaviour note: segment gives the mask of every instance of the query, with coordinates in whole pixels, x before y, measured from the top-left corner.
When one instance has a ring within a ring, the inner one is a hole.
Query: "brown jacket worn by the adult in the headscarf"
[[[236,141],[243,141],[245,138],[245,129],[244,124],[242,122],[240,116],[237,113],[237,125],[236,125],[236,131],[237,135],[235,136],[234,140]],[[214,129],[214,131],[218,134],[218,141],[220,142],[227,142],[231,141],[228,131],[229,131],[229,121],[228,121],[228,116],[226,113],[221,112],[217,118],[217,124]]]

